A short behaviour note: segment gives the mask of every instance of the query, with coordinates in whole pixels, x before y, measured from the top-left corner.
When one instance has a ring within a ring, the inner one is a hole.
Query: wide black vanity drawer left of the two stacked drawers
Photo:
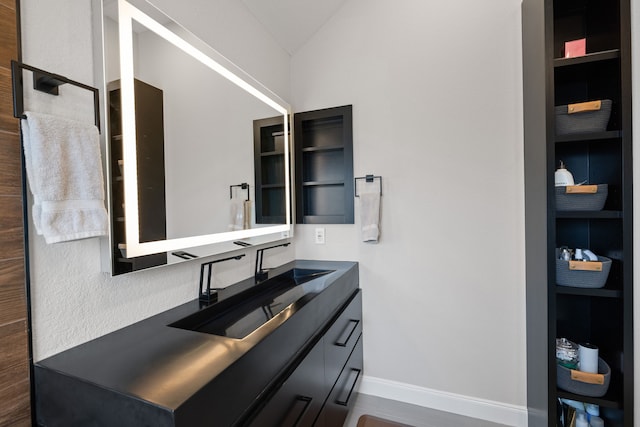
[[[251,427],[313,425],[327,395],[323,342],[320,340],[249,422]]]

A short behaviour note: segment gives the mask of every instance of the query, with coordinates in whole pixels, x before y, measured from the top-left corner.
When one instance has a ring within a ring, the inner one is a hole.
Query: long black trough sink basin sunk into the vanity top
[[[302,306],[318,295],[324,289],[322,282],[317,282],[317,286],[309,282],[333,271],[287,270],[169,326],[228,338],[245,338],[292,304]]]

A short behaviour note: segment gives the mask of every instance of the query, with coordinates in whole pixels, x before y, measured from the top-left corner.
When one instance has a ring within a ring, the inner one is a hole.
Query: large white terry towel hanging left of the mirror
[[[24,114],[22,139],[36,232],[47,243],[106,235],[98,129],[49,114]]]

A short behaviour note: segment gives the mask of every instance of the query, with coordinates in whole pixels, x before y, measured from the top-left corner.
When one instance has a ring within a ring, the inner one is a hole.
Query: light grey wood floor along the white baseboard
[[[356,427],[364,415],[384,418],[413,427],[507,427],[490,421],[464,417],[449,412],[436,411],[395,400],[358,394],[344,427]]]

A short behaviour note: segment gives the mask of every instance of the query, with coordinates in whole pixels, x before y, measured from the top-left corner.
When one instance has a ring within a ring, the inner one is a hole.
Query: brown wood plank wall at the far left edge
[[[0,426],[30,426],[19,122],[10,60],[18,59],[18,1],[0,0]]]

